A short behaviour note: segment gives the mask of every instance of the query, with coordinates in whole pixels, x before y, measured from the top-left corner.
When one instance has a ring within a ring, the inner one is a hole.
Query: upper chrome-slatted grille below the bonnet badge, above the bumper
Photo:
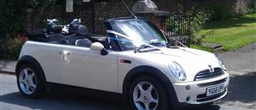
[[[214,68],[213,72],[210,72],[209,69],[202,70],[198,74],[195,75],[195,81],[197,80],[207,80],[213,77],[217,77],[221,74],[224,74],[224,71],[221,68]]]

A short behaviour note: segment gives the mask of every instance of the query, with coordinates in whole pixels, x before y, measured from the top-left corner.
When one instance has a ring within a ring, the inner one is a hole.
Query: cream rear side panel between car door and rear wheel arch
[[[58,63],[60,60],[61,45],[38,41],[27,41],[27,52],[23,54],[36,58],[40,66],[44,70],[45,79],[52,83],[61,83],[58,71]],[[21,53],[22,54],[22,53]]]

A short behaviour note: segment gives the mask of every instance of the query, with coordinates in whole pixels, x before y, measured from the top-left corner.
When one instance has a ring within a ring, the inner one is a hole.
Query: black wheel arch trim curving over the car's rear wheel
[[[18,69],[20,68],[20,66],[25,63],[29,63],[29,64],[32,64],[33,66],[35,66],[35,68],[38,69],[38,72],[39,72],[41,78],[46,81],[44,69],[42,68],[40,63],[38,63],[38,60],[36,58],[33,58],[32,56],[26,55],[19,59],[18,63],[16,64],[16,68],[15,68],[16,75],[18,74],[17,72],[18,72]]]

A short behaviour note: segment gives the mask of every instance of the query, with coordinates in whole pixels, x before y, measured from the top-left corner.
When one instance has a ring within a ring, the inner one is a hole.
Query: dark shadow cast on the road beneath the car
[[[109,96],[88,96],[73,93],[49,93],[47,96],[39,99],[27,99],[20,95],[19,92],[3,95],[2,102],[27,107],[28,109],[42,110],[130,110],[128,104],[118,97],[109,98]],[[197,107],[185,110],[219,110],[218,105],[207,107]]]

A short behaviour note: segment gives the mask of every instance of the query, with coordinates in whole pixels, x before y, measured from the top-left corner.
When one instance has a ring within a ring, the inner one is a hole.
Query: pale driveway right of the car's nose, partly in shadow
[[[219,56],[231,74],[230,92],[219,103],[256,110],[256,43]]]

